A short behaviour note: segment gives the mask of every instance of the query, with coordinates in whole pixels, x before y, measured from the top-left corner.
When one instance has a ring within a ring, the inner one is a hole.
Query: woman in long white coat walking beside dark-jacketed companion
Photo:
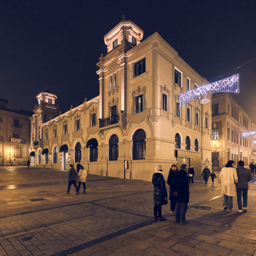
[[[235,162],[230,160],[220,171],[221,192],[224,197],[223,206],[224,210],[228,209],[229,212],[232,212],[233,197],[236,195],[235,183],[238,182],[236,168],[234,167]]]

